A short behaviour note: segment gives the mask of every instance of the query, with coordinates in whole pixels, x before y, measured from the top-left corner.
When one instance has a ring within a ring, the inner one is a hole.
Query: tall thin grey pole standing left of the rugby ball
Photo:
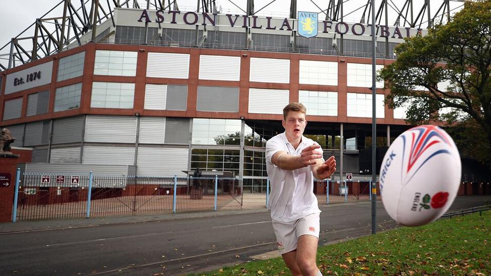
[[[376,87],[375,87],[375,47],[376,33],[375,33],[375,0],[371,0],[371,12],[372,12],[372,187],[370,187],[370,193],[372,193],[372,235],[376,233],[376,218],[377,218],[377,175],[376,175],[376,149],[377,149],[377,122],[376,122]]]

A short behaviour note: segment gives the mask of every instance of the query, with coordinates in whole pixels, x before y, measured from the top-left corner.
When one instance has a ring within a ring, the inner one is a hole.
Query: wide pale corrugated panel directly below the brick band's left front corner
[[[88,116],[85,129],[86,142],[134,143],[136,117]]]

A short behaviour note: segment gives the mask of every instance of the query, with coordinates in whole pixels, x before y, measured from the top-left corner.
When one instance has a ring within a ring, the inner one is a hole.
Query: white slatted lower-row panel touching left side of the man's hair
[[[289,94],[289,90],[250,88],[249,113],[283,114]]]

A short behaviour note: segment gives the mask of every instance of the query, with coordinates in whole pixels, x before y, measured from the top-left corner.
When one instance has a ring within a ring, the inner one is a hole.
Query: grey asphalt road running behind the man
[[[457,197],[450,210],[491,196]],[[319,243],[369,235],[371,203],[321,207]],[[396,227],[377,202],[377,231]],[[275,250],[269,213],[0,233],[1,275],[180,275]]]

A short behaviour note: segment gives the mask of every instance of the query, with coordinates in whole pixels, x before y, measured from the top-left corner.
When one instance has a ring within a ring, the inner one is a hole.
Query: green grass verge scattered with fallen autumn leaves
[[[491,211],[321,246],[324,275],[491,275]],[[289,275],[281,258],[194,275]],[[193,275],[193,274],[192,274]]]

